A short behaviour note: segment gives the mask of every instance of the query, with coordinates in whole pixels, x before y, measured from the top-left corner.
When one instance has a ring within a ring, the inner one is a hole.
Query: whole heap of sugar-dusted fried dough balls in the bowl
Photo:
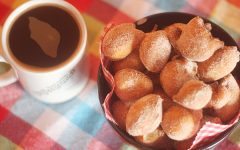
[[[106,33],[102,52],[112,63],[119,98],[111,112],[136,141],[185,150],[206,122],[227,123],[240,111],[240,90],[231,75],[240,53],[211,30],[195,17],[150,33],[132,23]]]

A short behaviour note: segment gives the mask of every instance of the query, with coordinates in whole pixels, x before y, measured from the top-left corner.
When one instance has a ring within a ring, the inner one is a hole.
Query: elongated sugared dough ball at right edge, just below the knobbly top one
[[[198,73],[205,82],[223,78],[233,71],[239,61],[236,46],[225,46],[214,53],[208,60],[198,64]]]

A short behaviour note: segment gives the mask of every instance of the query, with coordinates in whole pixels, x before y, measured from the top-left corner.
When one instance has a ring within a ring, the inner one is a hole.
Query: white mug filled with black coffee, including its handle
[[[0,86],[19,80],[41,101],[67,101],[88,81],[86,43],[85,22],[68,2],[24,3],[10,14],[3,27],[0,60],[13,69],[0,75]]]

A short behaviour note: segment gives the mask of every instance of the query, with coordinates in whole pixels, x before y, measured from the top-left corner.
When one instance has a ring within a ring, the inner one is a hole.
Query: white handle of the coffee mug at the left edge
[[[7,63],[7,61],[0,55],[0,62]],[[0,87],[7,86],[12,84],[18,80],[13,68],[8,70],[7,72],[0,74]]]

